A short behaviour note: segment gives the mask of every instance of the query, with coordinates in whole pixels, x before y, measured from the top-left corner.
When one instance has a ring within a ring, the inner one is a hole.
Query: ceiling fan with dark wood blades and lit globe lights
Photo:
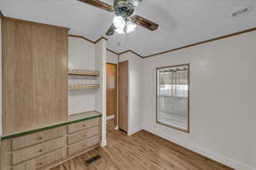
[[[130,33],[134,31],[136,26],[143,26],[150,31],[154,31],[158,28],[158,25],[154,22],[147,20],[141,16],[133,15],[135,8],[143,0],[114,0],[113,6],[108,3],[103,3],[99,0],[78,0],[83,3],[88,3],[97,8],[102,8],[115,14],[113,18],[113,24],[106,32],[107,36],[112,36],[116,31],[119,34]]]

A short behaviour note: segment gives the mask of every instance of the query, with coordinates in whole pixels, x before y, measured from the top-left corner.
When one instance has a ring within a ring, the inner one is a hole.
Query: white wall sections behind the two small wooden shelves
[[[68,68],[95,70],[95,44],[68,37]],[[94,77],[69,76],[69,82],[96,82]],[[95,111],[95,89],[69,90],[68,113]]]

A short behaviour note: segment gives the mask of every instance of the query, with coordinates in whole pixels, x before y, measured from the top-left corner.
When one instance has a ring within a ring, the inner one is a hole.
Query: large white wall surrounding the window
[[[255,44],[253,31],[143,59],[143,128],[237,170],[256,169]],[[155,120],[156,67],[186,63],[190,133]]]

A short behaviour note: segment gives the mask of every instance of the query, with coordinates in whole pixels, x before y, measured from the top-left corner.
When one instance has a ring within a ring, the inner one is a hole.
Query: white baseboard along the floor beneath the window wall
[[[196,153],[206,156],[207,158],[210,158],[214,161],[218,161],[228,167],[232,167],[236,170],[255,170],[255,168],[247,166],[239,161],[235,161],[233,159],[230,159],[229,157],[221,156],[216,152],[213,152],[212,150],[206,150],[204,148],[201,148],[200,146],[196,144],[191,144],[188,142],[183,141],[182,139],[178,139],[177,137],[166,137],[166,134],[162,132],[157,132],[154,129],[143,129],[148,133],[153,133],[156,136],[159,136],[162,139],[166,139],[168,141],[171,141],[172,143],[178,144],[188,150],[195,151]]]

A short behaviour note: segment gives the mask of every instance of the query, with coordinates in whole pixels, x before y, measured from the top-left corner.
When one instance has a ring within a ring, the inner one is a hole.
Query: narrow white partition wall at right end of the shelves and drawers
[[[95,46],[95,68],[101,71],[101,75],[97,77],[100,88],[96,89],[96,111],[102,113],[102,147],[107,145],[107,114],[106,114],[106,52],[107,42],[102,39]]]

